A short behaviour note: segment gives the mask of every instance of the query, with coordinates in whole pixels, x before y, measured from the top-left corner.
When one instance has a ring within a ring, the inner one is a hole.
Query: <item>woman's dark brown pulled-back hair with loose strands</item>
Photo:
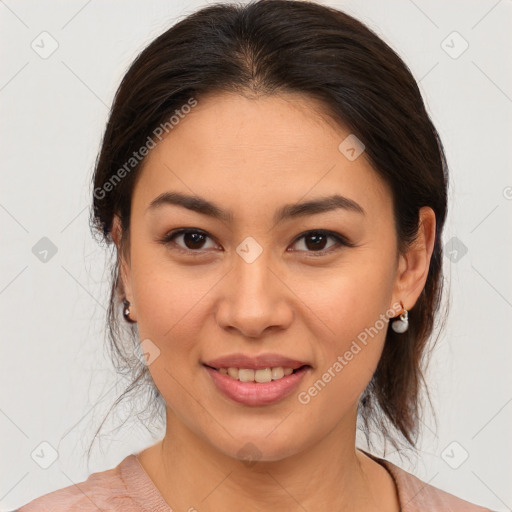
[[[319,100],[328,116],[363,142],[373,168],[389,185],[401,253],[417,236],[419,209],[434,210],[436,240],[425,287],[409,311],[408,331],[398,334],[388,326],[380,362],[358,410],[370,446],[371,436],[382,434],[397,450],[401,444],[414,449],[422,390],[428,396],[427,343],[440,324],[446,158],[417,83],[395,51],[353,17],[305,0],[206,6],[147,46],[117,90],[96,161],[91,212],[93,233],[107,244],[113,241],[115,213],[123,233],[120,251],[112,247],[117,258],[107,321],[114,364],[132,383],[113,406],[147,385],[150,408],[158,414],[165,409],[146,365],[135,355],[140,343],[136,325],[121,325],[119,258],[128,247],[131,198],[144,160],[122,173],[122,179],[114,178],[176,110],[191,98],[200,102],[202,95],[217,92],[299,93]]]

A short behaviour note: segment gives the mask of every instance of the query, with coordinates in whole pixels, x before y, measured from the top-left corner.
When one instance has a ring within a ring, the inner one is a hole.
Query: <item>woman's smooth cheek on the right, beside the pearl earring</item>
[[[317,339],[320,380],[343,400],[357,399],[377,367],[388,329],[393,277],[392,262],[368,252],[319,277],[314,290],[296,283],[298,295],[314,313],[311,330]]]

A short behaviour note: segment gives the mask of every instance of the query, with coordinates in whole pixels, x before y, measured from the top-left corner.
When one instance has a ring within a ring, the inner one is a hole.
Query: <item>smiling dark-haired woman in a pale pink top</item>
[[[488,510],[356,447],[360,419],[414,448],[446,211],[415,80],[363,24],[292,0],[181,20],[121,83],[93,197],[113,347],[166,433],[20,510]]]

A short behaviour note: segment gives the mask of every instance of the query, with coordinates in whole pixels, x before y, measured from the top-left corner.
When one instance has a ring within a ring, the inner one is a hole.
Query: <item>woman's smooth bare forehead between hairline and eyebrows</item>
[[[304,96],[203,96],[149,152],[133,200],[142,207],[181,191],[251,214],[339,193],[370,216],[389,212],[389,190],[365,153],[350,160],[340,150],[349,136]]]

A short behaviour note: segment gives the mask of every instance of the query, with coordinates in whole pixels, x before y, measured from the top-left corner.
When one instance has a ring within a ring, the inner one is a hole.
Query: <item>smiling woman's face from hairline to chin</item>
[[[399,257],[391,194],[363,148],[314,108],[291,95],[201,99],[150,151],[133,193],[123,281],[168,428],[232,457],[278,460],[351,433],[386,320],[400,300],[414,305],[428,270],[425,251]],[[215,209],[151,206],[164,193]],[[358,206],[296,206],[335,195]],[[233,354],[309,368],[284,397],[276,379],[249,383],[266,394],[239,385],[240,401],[204,365]]]

